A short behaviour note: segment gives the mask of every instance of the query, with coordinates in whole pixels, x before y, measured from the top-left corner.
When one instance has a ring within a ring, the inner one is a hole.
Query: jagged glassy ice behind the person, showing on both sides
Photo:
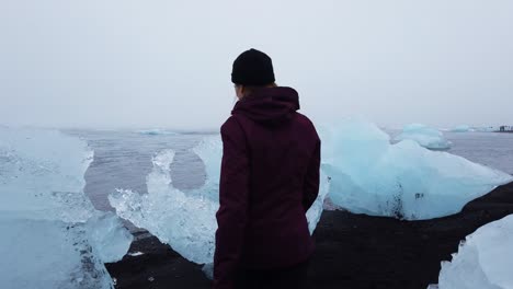
[[[109,199],[121,217],[147,229],[185,258],[209,264],[214,261],[216,212],[219,208],[220,137],[206,137],[193,151],[205,163],[207,177],[202,188],[182,192],[173,187],[170,164],[174,152],[167,150],[153,158],[152,172],[147,176],[148,194],[119,190]],[[320,219],[328,188],[324,177],[319,197],[307,212],[311,232]]]

